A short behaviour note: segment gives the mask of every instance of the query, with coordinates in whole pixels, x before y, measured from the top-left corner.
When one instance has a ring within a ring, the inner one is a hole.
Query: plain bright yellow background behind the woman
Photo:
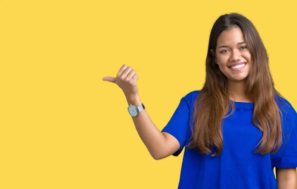
[[[297,109],[296,2],[0,1],[0,189],[175,189],[183,152],[153,160],[120,88],[127,64],[162,129],[202,87],[212,24],[247,16]]]

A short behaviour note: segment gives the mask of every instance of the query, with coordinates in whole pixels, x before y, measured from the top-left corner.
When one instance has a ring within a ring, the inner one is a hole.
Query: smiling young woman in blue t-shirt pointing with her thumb
[[[216,20],[205,84],[181,99],[162,131],[140,100],[137,79],[127,65],[103,78],[123,90],[154,159],[185,148],[179,189],[297,189],[297,113],[274,88],[266,49],[246,17]]]

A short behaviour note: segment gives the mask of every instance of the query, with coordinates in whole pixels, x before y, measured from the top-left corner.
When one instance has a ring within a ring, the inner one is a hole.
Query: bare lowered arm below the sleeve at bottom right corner
[[[276,168],[278,189],[297,189],[296,168]]]

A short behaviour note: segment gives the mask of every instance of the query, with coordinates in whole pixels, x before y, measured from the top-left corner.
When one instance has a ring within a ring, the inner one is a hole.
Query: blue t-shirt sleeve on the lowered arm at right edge
[[[295,112],[295,111],[294,111]],[[276,167],[279,168],[296,168],[297,167],[297,114],[291,122],[293,127],[288,135],[288,141],[285,142],[284,152]]]

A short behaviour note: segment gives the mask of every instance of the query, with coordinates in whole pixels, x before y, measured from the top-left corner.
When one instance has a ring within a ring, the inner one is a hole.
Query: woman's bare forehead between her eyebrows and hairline
[[[242,30],[239,27],[223,31],[217,38],[217,46],[220,45],[237,45],[239,42],[245,41]]]

